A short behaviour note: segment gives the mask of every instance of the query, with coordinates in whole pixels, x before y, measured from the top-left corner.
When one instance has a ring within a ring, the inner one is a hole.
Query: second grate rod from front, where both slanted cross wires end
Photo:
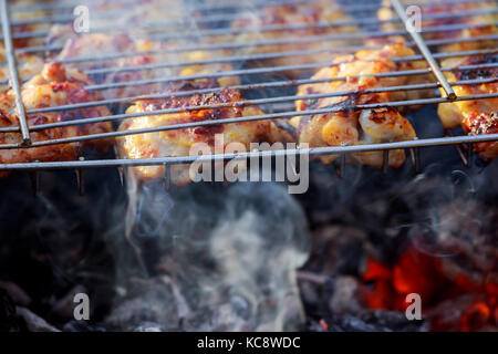
[[[498,93],[461,96],[461,97],[457,97],[456,101],[487,100],[487,98],[496,98],[496,97],[498,97]],[[365,104],[365,105],[356,105],[356,106],[351,106],[351,107],[328,107],[328,108],[322,108],[322,110],[308,110],[308,111],[301,111],[301,112],[292,111],[292,112],[256,115],[256,116],[241,117],[241,118],[224,118],[224,119],[216,119],[216,121],[203,121],[203,122],[195,122],[195,123],[183,123],[183,124],[158,126],[158,127],[153,127],[153,128],[110,132],[110,133],[73,136],[73,137],[68,137],[68,138],[40,140],[40,142],[33,142],[31,147],[77,143],[77,142],[94,140],[94,139],[105,139],[105,138],[112,138],[112,137],[122,137],[122,136],[136,135],[136,134],[158,133],[158,132],[174,131],[174,129],[185,129],[185,128],[197,127],[197,126],[290,118],[290,117],[303,116],[303,115],[339,113],[339,112],[344,112],[346,110],[364,111],[364,110],[375,110],[375,108],[384,108],[384,107],[400,107],[400,106],[406,106],[406,105],[438,104],[438,103],[445,103],[445,102],[447,102],[446,98],[424,98],[424,100],[412,100],[412,101],[385,102],[385,103],[378,103],[378,104]],[[176,111],[176,108],[159,110],[159,111],[155,111],[154,115],[169,114],[175,111]],[[137,116],[149,115],[148,113],[151,113],[151,112],[146,112],[146,113],[147,114],[137,114]],[[114,117],[116,117],[116,116],[120,116],[120,115],[115,115]],[[121,117],[123,117],[123,115]],[[14,149],[14,148],[19,148],[19,145],[18,144],[0,145],[0,149]]]

